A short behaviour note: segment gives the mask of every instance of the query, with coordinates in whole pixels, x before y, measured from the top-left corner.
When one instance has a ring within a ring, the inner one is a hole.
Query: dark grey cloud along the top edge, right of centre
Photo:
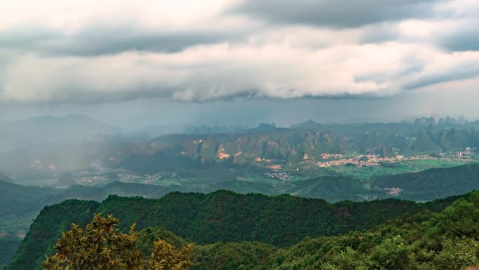
[[[248,0],[235,11],[274,22],[360,27],[375,22],[425,18],[433,0]]]

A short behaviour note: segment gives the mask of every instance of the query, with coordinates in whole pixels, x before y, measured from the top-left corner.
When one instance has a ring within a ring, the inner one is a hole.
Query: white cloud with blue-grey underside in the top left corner
[[[137,1],[135,5],[123,0],[6,1],[10,4],[0,11],[0,47],[48,55],[176,52],[235,39],[240,31],[255,26],[240,16],[219,14],[222,6],[231,3],[217,0],[204,5],[183,1],[197,13],[167,1]],[[242,28],[237,31],[238,25]]]

